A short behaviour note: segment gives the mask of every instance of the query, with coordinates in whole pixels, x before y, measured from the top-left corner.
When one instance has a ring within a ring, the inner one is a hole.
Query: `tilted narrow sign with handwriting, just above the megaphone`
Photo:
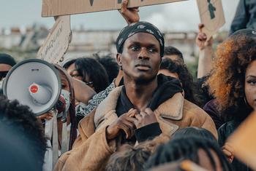
[[[59,63],[71,41],[70,16],[59,16],[48,37],[40,47],[37,58],[48,63]]]

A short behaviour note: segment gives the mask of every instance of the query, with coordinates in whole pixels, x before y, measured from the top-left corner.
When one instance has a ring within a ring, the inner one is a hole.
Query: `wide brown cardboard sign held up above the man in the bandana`
[[[132,0],[128,7],[141,7],[187,0]],[[122,0],[42,0],[42,17],[74,15],[121,8]]]

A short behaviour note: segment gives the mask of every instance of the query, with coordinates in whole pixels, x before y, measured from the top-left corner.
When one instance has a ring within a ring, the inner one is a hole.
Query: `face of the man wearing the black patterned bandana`
[[[124,42],[117,61],[124,76],[140,82],[152,81],[161,63],[159,41],[150,33],[135,33]]]

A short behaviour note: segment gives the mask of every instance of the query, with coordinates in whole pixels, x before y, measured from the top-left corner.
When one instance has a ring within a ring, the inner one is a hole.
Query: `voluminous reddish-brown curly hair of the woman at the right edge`
[[[246,68],[256,60],[256,35],[252,29],[237,31],[217,47],[213,71],[206,84],[217,99],[219,111],[238,111],[244,102]]]

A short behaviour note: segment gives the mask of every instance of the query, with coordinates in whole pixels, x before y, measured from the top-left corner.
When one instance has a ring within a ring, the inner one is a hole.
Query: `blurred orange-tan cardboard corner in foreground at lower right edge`
[[[256,112],[238,127],[236,132],[227,139],[233,148],[233,154],[253,170],[256,170]]]

